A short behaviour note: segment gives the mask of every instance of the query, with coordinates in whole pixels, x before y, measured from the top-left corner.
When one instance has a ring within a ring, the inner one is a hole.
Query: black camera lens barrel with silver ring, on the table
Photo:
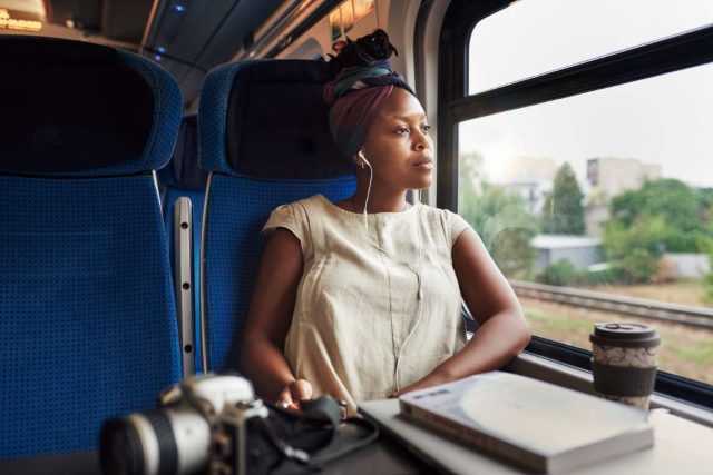
[[[163,412],[107,420],[99,435],[99,459],[107,475],[179,473],[176,438]]]

